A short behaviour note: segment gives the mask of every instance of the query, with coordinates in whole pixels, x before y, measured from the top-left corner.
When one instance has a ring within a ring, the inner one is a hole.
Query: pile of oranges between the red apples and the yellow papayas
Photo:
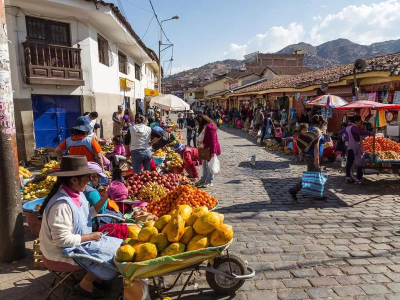
[[[197,187],[186,184],[177,186],[158,201],[148,203],[147,210],[159,217],[172,211],[180,204],[188,204],[193,208],[206,206],[211,209],[217,203],[218,200],[215,197]]]

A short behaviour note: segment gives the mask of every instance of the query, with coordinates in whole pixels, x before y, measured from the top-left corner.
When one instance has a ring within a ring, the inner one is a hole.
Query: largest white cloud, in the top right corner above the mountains
[[[348,5],[337,13],[327,14],[309,32],[312,44],[348,38],[361,44],[400,38],[400,2],[386,0],[370,5]]]

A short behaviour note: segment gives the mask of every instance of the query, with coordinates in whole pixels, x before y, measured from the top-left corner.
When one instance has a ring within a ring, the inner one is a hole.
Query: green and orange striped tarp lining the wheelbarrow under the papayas
[[[231,242],[232,240],[221,246],[207,247],[171,256],[161,256],[140,262],[118,262],[114,257],[114,263],[121,274],[129,280],[149,278],[183,269],[216,257],[220,255]]]

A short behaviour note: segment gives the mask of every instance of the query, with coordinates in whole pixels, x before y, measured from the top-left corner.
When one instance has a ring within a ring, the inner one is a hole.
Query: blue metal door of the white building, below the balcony
[[[32,96],[36,148],[56,147],[71,135],[71,124],[80,113],[79,96]]]

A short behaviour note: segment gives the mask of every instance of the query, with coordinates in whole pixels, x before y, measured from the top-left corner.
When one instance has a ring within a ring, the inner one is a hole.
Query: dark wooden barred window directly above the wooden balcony
[[[71,46],[68,23],[25,16],[26,33],[30,41]]]

